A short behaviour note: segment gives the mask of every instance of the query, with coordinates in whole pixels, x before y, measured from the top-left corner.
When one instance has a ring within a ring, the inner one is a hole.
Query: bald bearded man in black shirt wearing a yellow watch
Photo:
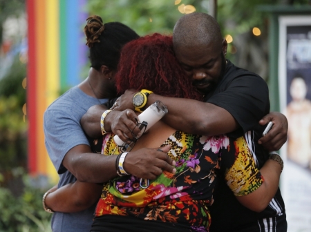
[[[258,168],[261,168],[269,159],[269,153],[258,144],[263,132],[258,122],[270,110],[265,81],[225,59],[227,41],[223,39],[216,20],[208,14],[192,13],[182,17],[173,31],[173,46],[180,65],[194,80],[193,84],[204,95],[205,102],[162,97],[152,93],[144,108],[156,100],[162,101],[169,109],[164,122],[187,133],[226,133],[234,137],[245,134]],[[113,131],[123,141],[126,141],[126,137],[133,137],[131,130],[135,127],[136,115],[133,111],[124,109],[134,109],[132,99],[135,93],[135,90],[126,91],[117,99],[115,110],[105,119],[105,131]],[[92,114],[92,110],[89,113]],[[99,115],[102,115],[102,110]],[[87,117],[88,115],[82,118],[82,123],[88,121]],[[115,118],[121,118],[121,123],[115,124]],[[98,128],[97,121],[95,126]],[[280,139],[282,134],[284,137],[284,133],[279,133],[281,130],[276,130],[277,128],[273,129],[273,133],[278,135],[271,135],[270,142],[267,142],[267,137],[261,138],[261,142],[265,142],[265,148],[270,151],[278,150],[285,142],[285,139]],[[90,126],[89,131],[91,130],[93,128]],[[283,141],[281,144],[280,140]],[[210,231],[286,231],[285,207],[279,191],[266,209],[256,213],[239,204],[225,182],[221,181],[223,178],[218,179],[215,202],[211,206]]]

